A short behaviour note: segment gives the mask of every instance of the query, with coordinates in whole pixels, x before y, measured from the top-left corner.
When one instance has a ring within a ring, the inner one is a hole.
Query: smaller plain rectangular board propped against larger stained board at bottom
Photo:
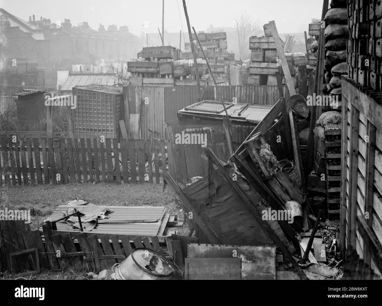
[[[186,258],[187,280],[240,280],[240,258]]]

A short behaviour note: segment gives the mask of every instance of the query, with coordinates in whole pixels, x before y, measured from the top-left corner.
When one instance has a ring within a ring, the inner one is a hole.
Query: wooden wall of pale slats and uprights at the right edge
[[[378,271],[368,237],[359,230],[357,216],[365,220],[382,244],[382,125],[380,105],[343,80],[341,239],[345,255],[350,247]]]

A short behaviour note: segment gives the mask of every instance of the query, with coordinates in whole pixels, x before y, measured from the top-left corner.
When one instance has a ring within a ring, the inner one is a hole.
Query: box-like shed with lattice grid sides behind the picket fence
[[[123,119],[121,87],[86,85],[73,87],[77,107],[72,110],[74,137],[120,139],[118,121]]]

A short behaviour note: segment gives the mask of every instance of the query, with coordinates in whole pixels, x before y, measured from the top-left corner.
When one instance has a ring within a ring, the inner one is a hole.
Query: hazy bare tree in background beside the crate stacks
[[[251,36],[263,36],[264,31],[260,27],[260,22],[253,21],[252,17],[247,13],[241,14],[239,18],[236,18],[237,26],[237,46],[241,60],[248,60],[251,58],[251,50],[249,50],[249,37]]]

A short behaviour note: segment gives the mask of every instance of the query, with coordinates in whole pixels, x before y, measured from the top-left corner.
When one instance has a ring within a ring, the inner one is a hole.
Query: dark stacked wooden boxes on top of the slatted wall
[[[382,3],[358,0],[348,3],[349,76],[376,92],[382,90]]]

